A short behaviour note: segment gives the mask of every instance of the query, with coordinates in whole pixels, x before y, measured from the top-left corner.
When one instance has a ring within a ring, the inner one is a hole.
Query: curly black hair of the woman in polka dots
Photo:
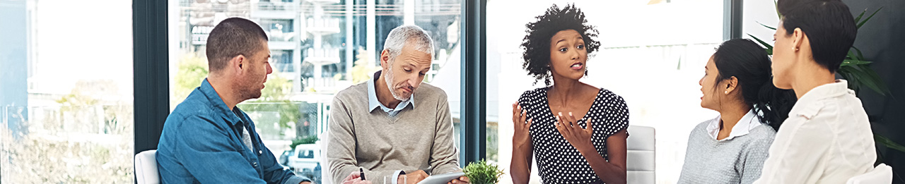
[[[543,78],[544,83],[550,86],[550,39],[557,32],[575,30],[581,34],[588,54],[600,48],[600,42],[594,40],[599,32],[595,26],[586,24],[585,13],[575,7],[575,4],[566,5],[563,9],[559,9],[557,5],[550,6],[547,13],[535,18],[537,22],[525,25],[528,35],[525,35],[521,43],[521,47],[525,48],[521,55],[525,61],[521,66],[534,77],[534,84]]]

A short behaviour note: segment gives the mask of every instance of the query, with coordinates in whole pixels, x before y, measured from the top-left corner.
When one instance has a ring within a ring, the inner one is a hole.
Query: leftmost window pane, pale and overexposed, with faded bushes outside
[[[0,183],[132,183],[131,1],[0,2]]]

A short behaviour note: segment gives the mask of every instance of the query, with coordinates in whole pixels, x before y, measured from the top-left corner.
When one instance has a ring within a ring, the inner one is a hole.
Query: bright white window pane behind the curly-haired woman
[[[591,53],[588,75],[581,81],[624,97],[631,125],[658,130],[657,183],[675,183],[691,129],[716,115],[699,106],[698,80],[722,41],[722,0],[489,1],[488,159],[510,165],[511,105],[523,92],[545,86],[543,81],[532,85],[534,78],[522,69],[524,49],[519,45],[525,24],[534,22],[550,5],[562,8],[573,2],[600,32],[596,38],[600,50]],[[539,183],[538,170],[532,172],[531,182]],[[500,183],[511,182],[508,174],[500,179]]]

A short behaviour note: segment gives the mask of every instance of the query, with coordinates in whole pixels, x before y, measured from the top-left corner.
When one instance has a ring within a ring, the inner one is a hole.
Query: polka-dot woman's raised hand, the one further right
[[[591,135],[594,134],[594,124],[591,124],[590,117],[587,118],[586,124],[587,128],[581,128],[581,125],[578,125],[578,120],[575,119],[571,112],[567,116],[563,116],[563,113],[557,115],[557,131],[578,152],[595,150],[594,143],[591,143]]]

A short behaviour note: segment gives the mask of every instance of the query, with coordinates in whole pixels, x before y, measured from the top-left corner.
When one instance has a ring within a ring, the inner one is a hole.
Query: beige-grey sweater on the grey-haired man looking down
[[[339,91],[329,116],[327,161],[333,182],[364,168],[378,182],[396,170],[443,174],[461,170],[446,93],[422,83],[414,107],[395,116],[368,109],[367,82]]]

